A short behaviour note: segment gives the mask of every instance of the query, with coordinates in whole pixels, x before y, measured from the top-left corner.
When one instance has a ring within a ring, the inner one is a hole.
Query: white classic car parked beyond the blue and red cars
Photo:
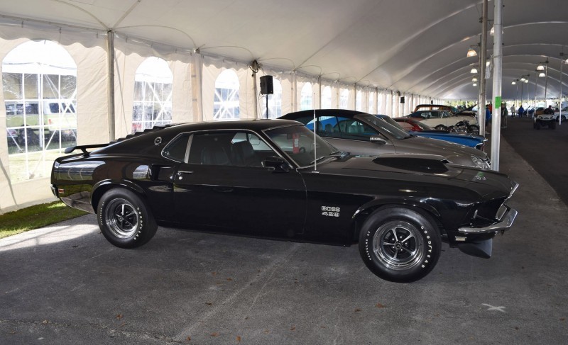
[[[471,115],[454,115],[449,111],[432,110],[432,111],[415,111],[407,118],[422,121],[425,124],[437,130],[448,130],[449,132],[471,132],[479,134],[479,126],[477,118]]]

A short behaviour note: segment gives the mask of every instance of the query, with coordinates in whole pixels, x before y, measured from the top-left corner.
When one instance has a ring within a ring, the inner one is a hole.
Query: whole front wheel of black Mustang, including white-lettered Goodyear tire
[[[376,276],[410,283],[425,277],[441,251],[432,218],[410,208],[383,208],[371,214],[359,234],[359,254]]]

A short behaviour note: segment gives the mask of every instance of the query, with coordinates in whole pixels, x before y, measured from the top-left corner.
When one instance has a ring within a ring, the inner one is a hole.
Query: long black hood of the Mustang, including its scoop
[[[492,170],[447,163],[432,154],[382,154],[379,157],[347,157],[318,164],[320,174],[360,176],[401,181],[419,186],[455,186],[476,191],[487,198],[508,196],[515,181]]]

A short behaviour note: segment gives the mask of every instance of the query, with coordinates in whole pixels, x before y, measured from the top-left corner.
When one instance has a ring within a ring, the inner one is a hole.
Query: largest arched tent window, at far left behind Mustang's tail
[[[77,65],[58,43],[33,40],[2,61],[11,182],[48,177],[77,145]]]

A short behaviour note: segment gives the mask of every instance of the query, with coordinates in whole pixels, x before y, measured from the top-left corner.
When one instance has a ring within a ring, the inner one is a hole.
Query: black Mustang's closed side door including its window
[[[267,237],[303,232],[302,176],[263,167],[264,158],[278,154],[257,135],[209,131],[179,139],[187,150],[173,176],[178,222]]]

